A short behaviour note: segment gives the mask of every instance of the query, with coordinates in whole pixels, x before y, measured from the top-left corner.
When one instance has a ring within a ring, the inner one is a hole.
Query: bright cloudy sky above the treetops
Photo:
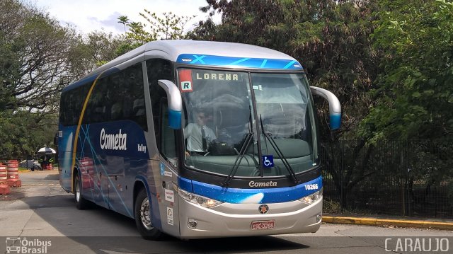
[[[1,1],[1,0],[0,0]],[[146,8],[156,14],[172,12],[178,16],[197,15],[186,29],[197,21],[205,20],[207,13],[200,11],[207,6],[206,0],[24,0],[50,13],[50,16],[65,25],[74,25],[76,30],[87,34],[93,30],[104,30],[113,34],[124,33],[119,16],[127,16],[130,21],[147,23],[139,13]],[[215,21],[215,18],[214,18]]]

